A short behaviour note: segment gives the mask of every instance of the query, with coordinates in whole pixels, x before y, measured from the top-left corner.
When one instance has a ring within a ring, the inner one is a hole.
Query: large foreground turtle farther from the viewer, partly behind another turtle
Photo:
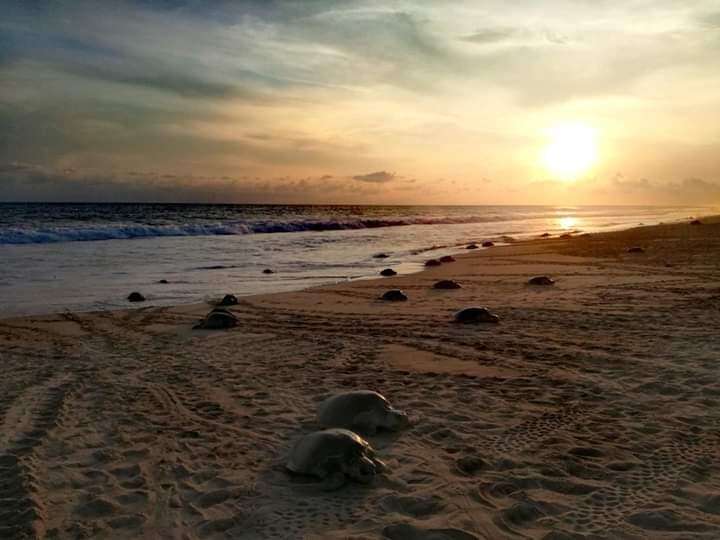
[[[318,423],[325,428],[356,429],[374,434],[378,428],[398,430],[408,425],[408,415],[394,409],[382,394],[353,390],[329,397],[320,404]]]

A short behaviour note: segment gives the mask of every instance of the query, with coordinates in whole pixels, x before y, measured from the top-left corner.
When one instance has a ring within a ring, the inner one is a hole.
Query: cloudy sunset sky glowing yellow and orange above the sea
[[[4,0],[0,200],[718,204],[720,4]]]

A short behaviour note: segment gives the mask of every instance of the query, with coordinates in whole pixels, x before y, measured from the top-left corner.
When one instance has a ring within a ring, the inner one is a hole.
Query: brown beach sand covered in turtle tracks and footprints
[[[2,321],[0,538],[720,538],[719,263],[716,221],[244,298],[228,331],[191,330],[205,305]],[[450,322],[470,305],[501,324]],[[387,473],[291,481],[351,388],[415,417],[370,437]]]

